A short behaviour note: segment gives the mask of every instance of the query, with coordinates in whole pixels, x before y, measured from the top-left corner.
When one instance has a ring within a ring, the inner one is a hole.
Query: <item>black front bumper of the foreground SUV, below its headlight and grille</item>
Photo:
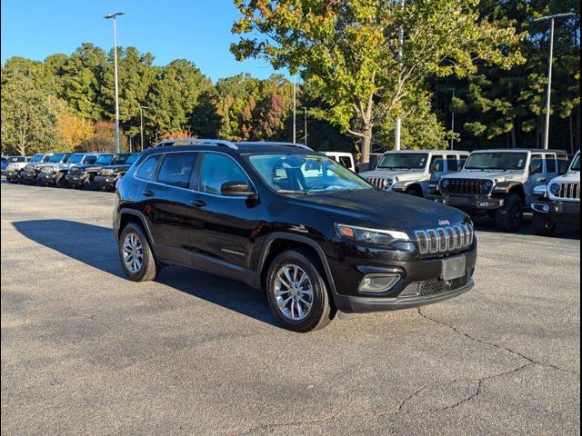
[[[339,256],[327,258],[334,277],[334,301],[341,312],[405,309],[446,300],[473,287],[477,243],[466,252],[427,259],[419,259],[415,253],[361,251],[359,248],[354,245],[343,246],[340,247]],[[465,257],[465,276],[448,282],[441,280],[443,261],[457,256]],[[368,273],[397,273],[400,280],[387,292],[359,292],[359,284]]]

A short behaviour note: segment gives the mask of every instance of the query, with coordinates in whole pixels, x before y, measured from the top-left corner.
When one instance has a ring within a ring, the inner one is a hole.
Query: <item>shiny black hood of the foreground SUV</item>
[[[467,213],[458,209],[376,189],[301,195],[293,203],[297,209],[333,213],[336,222],[386,230],[414,231],[438,227],[442,221],[457,224],[469,220]]]

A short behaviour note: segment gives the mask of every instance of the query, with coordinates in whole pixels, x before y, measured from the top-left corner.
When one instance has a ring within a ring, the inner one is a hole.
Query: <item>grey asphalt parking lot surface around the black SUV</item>
[[[122,277],[112,193],[2,193],[2,434],[579,434],[580,239],[478,222],[476,288],[281,329],[261,292]]]

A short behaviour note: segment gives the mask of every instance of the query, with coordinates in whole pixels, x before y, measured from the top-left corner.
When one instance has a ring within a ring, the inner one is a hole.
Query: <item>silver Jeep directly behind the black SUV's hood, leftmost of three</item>
[[[460,171],[468,155],[450,150],[386,152],[374,171],[360,175],[380,189],[426,197],[437,192],[441,177]]]

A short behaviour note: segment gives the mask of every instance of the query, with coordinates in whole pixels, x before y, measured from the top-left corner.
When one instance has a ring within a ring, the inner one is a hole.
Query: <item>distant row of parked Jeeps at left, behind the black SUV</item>
[[[9,183],[115,191],[115,183],[138,155],[39,153],[32,157],[15,156],[23,159],[9,162],[4,173]]]

